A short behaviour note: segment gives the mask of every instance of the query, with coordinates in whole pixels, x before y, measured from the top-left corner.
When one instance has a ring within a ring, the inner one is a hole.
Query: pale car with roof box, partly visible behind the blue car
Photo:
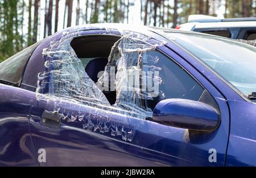
[[[196,31],[232,39],[255,40],[256,18],[219,19],[208,15],[189,15],[188,23],[176,29]]]

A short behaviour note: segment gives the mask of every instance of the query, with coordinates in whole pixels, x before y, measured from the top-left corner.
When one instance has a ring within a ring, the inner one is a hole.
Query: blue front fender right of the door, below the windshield
[[[226,165],[255,166],[256,104],[244,101],[228,103],[232,119]]]

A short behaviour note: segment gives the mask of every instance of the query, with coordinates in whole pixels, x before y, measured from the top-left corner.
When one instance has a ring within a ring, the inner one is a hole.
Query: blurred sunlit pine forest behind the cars
[[[107,22],[174,28],[191,14],[256,16],[256,0],[0,0],[0,62],[69,26]]]

